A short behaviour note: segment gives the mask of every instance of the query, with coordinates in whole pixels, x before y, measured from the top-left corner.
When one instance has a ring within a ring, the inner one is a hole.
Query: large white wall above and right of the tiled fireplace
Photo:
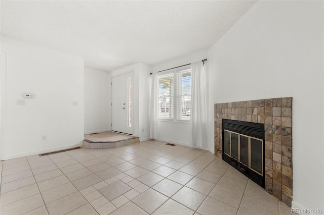
[[[209,66],[214,103],[293,97],[292,207],[323,210],[323,2],[256,2]]]

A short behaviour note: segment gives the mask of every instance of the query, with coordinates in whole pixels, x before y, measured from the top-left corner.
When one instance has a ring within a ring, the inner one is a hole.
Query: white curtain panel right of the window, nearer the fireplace
[[[207,148],[207,74],[202,61],[191,63],[191,145]]]

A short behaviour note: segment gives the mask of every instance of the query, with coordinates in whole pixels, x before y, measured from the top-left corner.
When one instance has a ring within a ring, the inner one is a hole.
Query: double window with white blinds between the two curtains
[[[190,120],[191,69],[181,68],[158,76],[159,119]]]

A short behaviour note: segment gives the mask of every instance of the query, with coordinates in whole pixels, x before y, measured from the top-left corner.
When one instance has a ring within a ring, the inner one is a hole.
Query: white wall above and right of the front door
[[[150,69],[143,63],[136,63],[110,72],[111,78],[130,72],[134,73],[134,136],[139,137],[140,141],[149,139]],[[111,94],[109,95],[109,102],[111,102]]]

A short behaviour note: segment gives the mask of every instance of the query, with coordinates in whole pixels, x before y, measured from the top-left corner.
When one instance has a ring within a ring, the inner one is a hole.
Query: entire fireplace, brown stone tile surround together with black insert
[[[250,130],[251,126],[260,125],[255,130],[261,129],[263,136],[232,129],[233,122],[247,123]],[[245,175],[250,172],[262,176],[254,181],[259,180],[258,184],[268,193],[289,206],[293,189],[292,146],[292,97],[215,104],[215,154],[228,163],[236,163],[235,168]],[[252,157],[253,151],[256,153]]]

